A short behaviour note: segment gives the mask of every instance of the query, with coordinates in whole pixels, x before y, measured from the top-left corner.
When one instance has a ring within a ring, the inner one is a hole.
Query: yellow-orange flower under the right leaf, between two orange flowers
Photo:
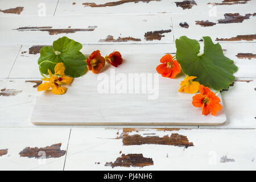
[[[196,93],[200,84],[198,81],[192,81],[195,78],[196,76],[186,76],[180,83],[179,92]]]

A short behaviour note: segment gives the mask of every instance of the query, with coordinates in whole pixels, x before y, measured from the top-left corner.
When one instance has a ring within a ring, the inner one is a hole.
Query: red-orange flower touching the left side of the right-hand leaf
[[[180,65],[177,60],[172,60],[172,56],[167,54],[160,59],[162,64],[156,67],[156,71],[163,77],[174,78],[180,73]]]

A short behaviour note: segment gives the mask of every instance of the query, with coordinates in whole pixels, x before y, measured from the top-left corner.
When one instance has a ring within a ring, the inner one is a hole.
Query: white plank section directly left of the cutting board
[[[26,79],[29,80],[29,79]],[[35,83],[26,80],[0,80],[0,126],[30,127],[30,115],[36,100]]]

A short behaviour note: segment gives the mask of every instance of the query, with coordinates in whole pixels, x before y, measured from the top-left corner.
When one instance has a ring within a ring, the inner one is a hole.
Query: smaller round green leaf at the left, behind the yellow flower
[[[86,71],[85,56],[80,52],[82,44],[69,39],[66,36],[53,42],[53,46],[46,46],[40,50],[38,64],[48,60],[53,63],[64,63],[65,75],[80,77]],[[54,73],[55,64],[43,62],[39,69],[40,72],[48,74],[48,69]]]

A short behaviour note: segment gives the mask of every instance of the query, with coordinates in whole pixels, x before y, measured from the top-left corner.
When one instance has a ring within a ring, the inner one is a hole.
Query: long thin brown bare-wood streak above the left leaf
[[[52,27],[20,27],[16,28],[18,31],[46,31],[49,32],[49,35],[57,35],[57,34],[73,34],[75,32],[80,31],[94,31],[95,28],[55,28]]]

